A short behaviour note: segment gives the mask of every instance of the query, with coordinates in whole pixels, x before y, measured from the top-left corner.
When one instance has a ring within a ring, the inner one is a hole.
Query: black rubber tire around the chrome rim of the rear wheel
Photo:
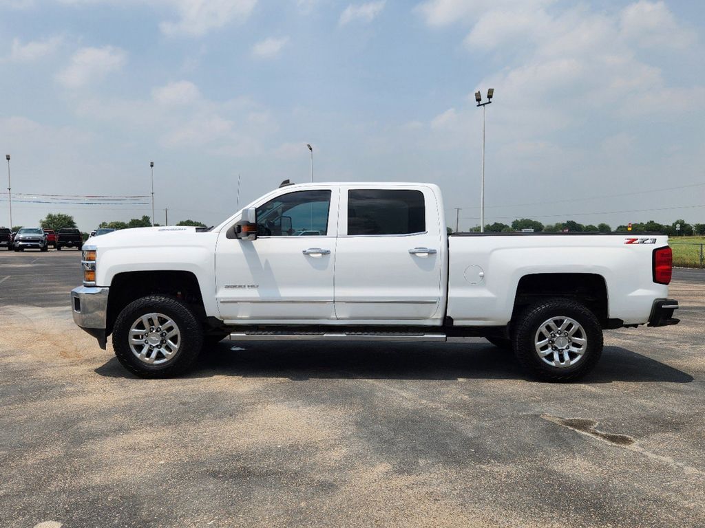
[[[547,320],[561,318],[577,321],[587,343],[575,364],[548,365],[537,351],[537,332]],[[587,306],[567,298],[549,298],[526,308],[514,325],[513,338],[514,353],[522,367],[534,377],[548,382],[572,382],[580,379],[595,367],[602,355],[603,337],[599,320]]]

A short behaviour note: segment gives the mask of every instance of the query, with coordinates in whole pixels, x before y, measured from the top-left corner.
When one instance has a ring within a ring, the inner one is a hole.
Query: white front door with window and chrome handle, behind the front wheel
[[[335,318],[336,203],[330,189],[284,193],[257,207],[256,240],[221,232],[216,292],[223,320],[305,324]]]

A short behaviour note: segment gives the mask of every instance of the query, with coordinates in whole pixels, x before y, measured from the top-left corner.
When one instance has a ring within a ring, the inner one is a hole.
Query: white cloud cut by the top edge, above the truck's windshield
[[[247,20],[257,0],[168,0],[178,11],[179,20],[159,24],[164,34],[200,37],[233,20]]]

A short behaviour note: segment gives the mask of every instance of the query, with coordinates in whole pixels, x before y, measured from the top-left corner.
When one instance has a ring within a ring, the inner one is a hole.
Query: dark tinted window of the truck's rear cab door
[[[426,208],[421,191],[348,191],[348,234],[410,234],[424,231]]]

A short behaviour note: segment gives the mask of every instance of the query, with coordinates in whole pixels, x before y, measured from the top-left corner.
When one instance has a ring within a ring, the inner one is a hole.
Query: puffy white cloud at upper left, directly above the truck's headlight
[[[81,48],[73,54],[71,63],[56,75],[56,80],[67,88],[82,87],[120,70],[126,60],[125,51],[114,46]]]

